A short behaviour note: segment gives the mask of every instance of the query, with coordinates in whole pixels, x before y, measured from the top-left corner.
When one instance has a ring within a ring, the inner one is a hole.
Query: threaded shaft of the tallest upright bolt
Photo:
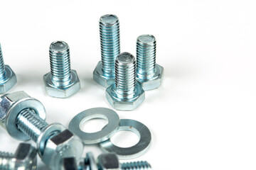
[[[114,77],[114,60],[120,53],[119,20],[117,16],[100,18],[100,49],[102,72],[105,77]]]

